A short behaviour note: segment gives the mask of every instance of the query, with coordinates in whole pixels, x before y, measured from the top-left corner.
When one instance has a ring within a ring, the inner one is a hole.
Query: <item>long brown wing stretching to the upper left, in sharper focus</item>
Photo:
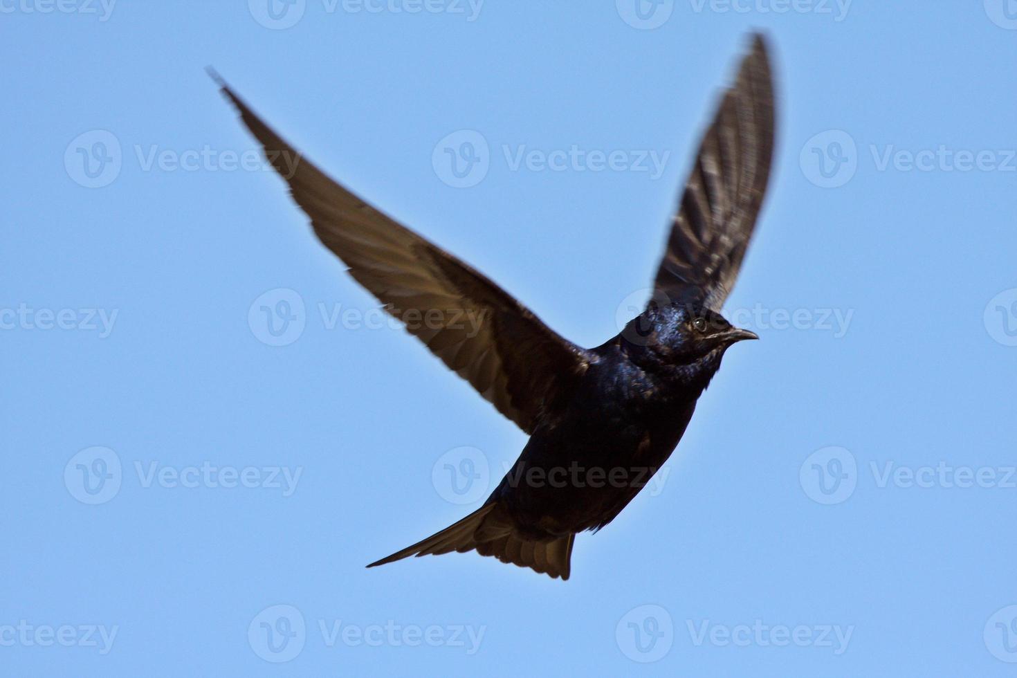
[[[532,433],[586,370],[587,352],[483,274],[330,179],[213,77],[350,274],[498,412]]]

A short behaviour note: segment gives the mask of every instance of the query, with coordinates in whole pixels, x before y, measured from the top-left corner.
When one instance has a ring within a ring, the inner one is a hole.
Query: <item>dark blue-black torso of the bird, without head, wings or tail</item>
[[[537,426],[492,493],[489,501],[505,508],[521,534],[602,528],[681,439],[705,386],[700,375],[640,367],[623,347],[618,340],[594,350],[569,405]]]

